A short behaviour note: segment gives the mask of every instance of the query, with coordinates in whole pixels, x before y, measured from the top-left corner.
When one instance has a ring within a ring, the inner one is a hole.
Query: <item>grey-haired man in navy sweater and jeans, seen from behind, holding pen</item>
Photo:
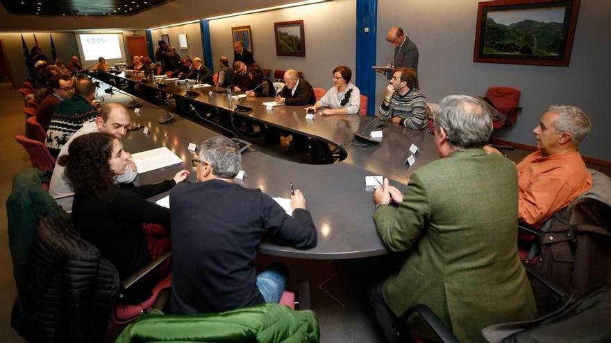
[[[237,143],[218,136],[201,144],[197,180],[170,192],[172,285],[170,311],[215,313],[278,302],[286,284],[283,267],[256,274],[263,230],[278,244],[311,249],[317,231],[299,190],[292,216],[260,189],[233,183],[240,172]],[[287,188],[290,185],[287,184]]]

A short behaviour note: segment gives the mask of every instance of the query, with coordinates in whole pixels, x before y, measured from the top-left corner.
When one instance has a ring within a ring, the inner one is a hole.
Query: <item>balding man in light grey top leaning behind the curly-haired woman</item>
[[[70,137],[62,147],[58,159],[63,155],[68,155],[70,143],[76,137],[83,136],[83,134],[102,132],[112,134],[121,141],[126,136],[130,123],[129,112],[124,105],[120,103],[107,103],[100,108],[99,116],[95,118],[95,121],[83,124],[83,127]],[[71,212],[74,192],[64,176],[64,171],[65,168],[63,166],[60,166],[60,164],[55,165],[51,183],[49,184],[49,194],[57,201],[58,205],[62,206],[62,209],[66,212]],[[130,157],[127,160],[125,173],[118,175],[115,182],[117,184],[128,184],[133,182],[136,176],[136,166]]]

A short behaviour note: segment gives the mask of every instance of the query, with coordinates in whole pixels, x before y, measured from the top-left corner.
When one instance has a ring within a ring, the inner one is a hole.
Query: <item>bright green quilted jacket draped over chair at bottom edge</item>
[[[149,315],[133,322],[116,343],[128,342],[319,342],[316,315],[262,304],[206,315]]]

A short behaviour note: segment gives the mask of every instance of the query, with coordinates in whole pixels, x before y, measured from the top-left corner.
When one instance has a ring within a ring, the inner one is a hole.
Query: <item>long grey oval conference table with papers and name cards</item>
[[[394,123],[380,122],[370,116],[316,114],[313,120],[308,120],[303,107],[278,106],[267,109],[262,103],[273,98],[248,97],[241,98],[239,104],[251,107],[252,110],[236,112],[234,107],[238,100],[228,98],[226,94],[211,92],[207,87],[193,89],[198,94],[188,95],[184,86],[168,84],[166,87],[158,87],[160,80],[142,82],[141,78],[126,77],[124,73],[96,77],[106,82],[100,89],[110,85],[126,85],[125,88],[129,91],[137,85],[136,88],[141,91],[148,89],[171,94],[175,96],[177,104],[187,102],[213,107],[220,115],[250,118],[344,150],[347,157],[333,164],[296,163],[269,155],[262,151],[265,147],[258,146],[252,146],[242,153],[242,170],[246,176],[242,180],[236,179],[235,182],[249,188],[260,188],[271,197],[284,198],[290,198],[290,184],[294,184],[294,188],[300,189],[305,195],[308,210],[312,213],[318,231],[318,244],[313,249],[293,249],[264,239],[259,249],[261,254],[324,260],[387,254],[388,250],[378,237],[372,220],[375,209],[373,193],[366,189],[365,177],[383,175],[390,180],[390,184],[403,189],[415,168],[437,159],[432,134],[409,130]],[[158,118],[167,113],[166,109],[124,90],[112,88],[115,89],[114,94],[98,91],[102,104],[108,101],[124,105],[137,103],[141,106],[140,111],[132,112],[131,119],[135,125],[148,127],[146,133],[145,130],[131,131],[123,140],[124,149],[133,154],[166,146],[183,160],[181,166],[139,174],[140,184],[170,179],[183,168],[192,172],[188,180],[194,182],[195,173],[190,160],[196,158],[196,153],[188,149],[189,143],[199,146],[202,141],[223,131],[189,115],[177,116],[175,121],[161,124]],[[212,128],[219,132],[211,130]],[[368,135],[371,130],[383,132],[380,143],[362,146],[353,141],[354,132]],[[419,149],[415,154],[408,150],[412,144]],[[415,158],[412,166],[405,163],[410,155]],[[158,200],[165,195],[167,193],[151,200]]]

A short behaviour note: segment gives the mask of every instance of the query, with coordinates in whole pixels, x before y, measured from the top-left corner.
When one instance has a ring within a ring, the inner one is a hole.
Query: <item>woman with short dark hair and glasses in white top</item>
[[[333,69],[333,85],[314,106],[308,109],[323,108],[323,116],[333,114],[358,114],[360,108],[360,91],[350,83],[352,71],[349,67],[340,66]]]

